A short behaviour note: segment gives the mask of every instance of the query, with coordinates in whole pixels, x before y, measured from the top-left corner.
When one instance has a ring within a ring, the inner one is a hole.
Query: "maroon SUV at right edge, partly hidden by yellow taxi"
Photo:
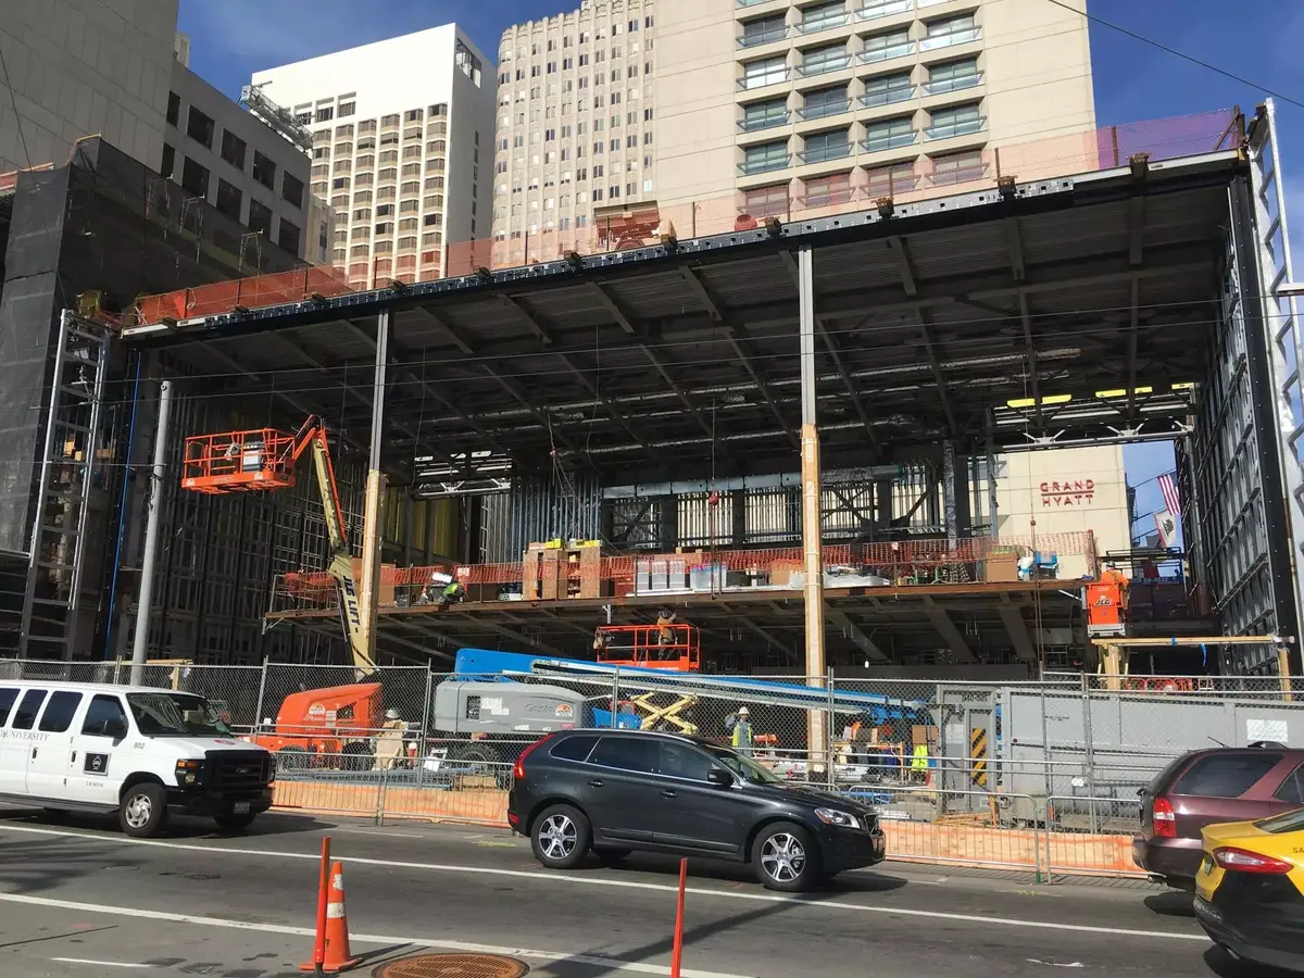
[[[1200,829],[1304,806],[1304,750],[1221,747],[1184,754],[1141,789],[1132,858],[1151,878],[1194,889]]]

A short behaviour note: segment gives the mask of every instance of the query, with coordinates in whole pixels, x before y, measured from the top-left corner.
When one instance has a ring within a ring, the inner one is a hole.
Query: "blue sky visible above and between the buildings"
[[[1025,0],[1031,3],[1033,0]],[[1041,0],[1050,3],[1050,0]],[[190,67],[231,96],[253,72],[456,21],[494,60],[505,27],[578,7],[578,0],[181,0]],[[1304,102],[1300,0],[1089,0],[1093,16],[1159,40]],[[1101,125],[1240,104],[1264,93],[1183,61],[1099,23],[1091,25],[1095,112]],[[1304,200],[1304,110],[1278,99],[1282,167],[1292,216]],[[1295,253],[1304,257],[1296,220]],[[1304,266],[1301,266],[1304,267]],[[1304,274],[1300,271],[1299,274]],[[1159,509],[1153,477],[1172,468],[1171,446],[1129,446],[1137,512]]]

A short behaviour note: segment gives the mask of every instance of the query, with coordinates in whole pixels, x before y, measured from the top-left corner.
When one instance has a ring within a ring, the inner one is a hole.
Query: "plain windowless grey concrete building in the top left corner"
[[[176,12],[177,0],[8,0],[0,171],[61,166],[82,136],[158,170]]]

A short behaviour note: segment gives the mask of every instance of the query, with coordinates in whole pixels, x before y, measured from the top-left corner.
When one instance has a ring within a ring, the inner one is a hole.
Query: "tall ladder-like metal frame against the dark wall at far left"
[[[72,659],[86,524],[95,488],[108,333],[64,310],[50,381],[44,447],[22,602],[18,655]]]

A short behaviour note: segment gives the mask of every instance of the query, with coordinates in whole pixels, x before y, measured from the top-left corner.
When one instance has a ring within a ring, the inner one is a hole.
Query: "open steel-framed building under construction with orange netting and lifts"
[[[223,275],[240,246],[111,153],[7,196],[9,655],[995,682],[1224,634],[1278,647],[1204,670],[1299,672],[1270,104],[784,215],[450,245],[449,278],[366,292]],[[1095,466],[1170,441],[1185,549],[1136,550]]]

